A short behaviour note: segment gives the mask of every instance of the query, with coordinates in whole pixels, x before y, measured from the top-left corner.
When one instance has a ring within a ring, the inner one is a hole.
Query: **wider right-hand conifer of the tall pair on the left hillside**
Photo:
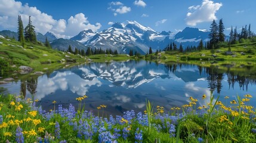
[[[29,16],[29,24],[25,28],[25,40],[27,42],[36,43],[35,26],[32,25],[32,21]]]

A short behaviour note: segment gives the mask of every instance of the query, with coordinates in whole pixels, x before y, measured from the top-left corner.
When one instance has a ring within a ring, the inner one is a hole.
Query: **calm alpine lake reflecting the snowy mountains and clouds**
[[[210,95],[219,95],[219,100],[230,105],[238,95],[251,94],[250,105],[256,105],[256,67],[253,65],[223,64],[203,65],[181,63],[155,63],[150,61],[112,61],[109,63],[87,63],[58,69],[42,76],[27,76],[15,82],[0,85],[1,92],[24,95],[39,100],[43,110],[54,109],[53,101],[63,107],[70,104],[78,108],[78,97],[84,110],[98,113],[104,108],[106,115],[121,115],[124,111],[146,110],[146,100],[154,107],[159,105],[166,111],[171,107],[188,104],[189,98],[198,99],[198,107],[206,105]],[[206,100],[202,100],[202,95]],[[225,97],[229,97],[226,99]]]

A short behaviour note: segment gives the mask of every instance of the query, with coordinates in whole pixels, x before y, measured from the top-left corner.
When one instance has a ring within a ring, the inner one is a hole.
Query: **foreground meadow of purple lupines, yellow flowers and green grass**
[[[79,107],[63,108],[53,101],[50,112],[35,107],[21,96],[1,95],[1,142],[254,142],[255,108],[251,95],[230,99],[227,107],[211,95],[206,102],[190,97],[182,107],[154,107],[149,101],[143,113],[126,111],[123,116],[104,117],[84,109],[86,98],[76,98]],[[215,102],[214,102],[215,101]],[[199,103],[200,102],[200,103]],[[8,140],[8,141],[7,141]]]

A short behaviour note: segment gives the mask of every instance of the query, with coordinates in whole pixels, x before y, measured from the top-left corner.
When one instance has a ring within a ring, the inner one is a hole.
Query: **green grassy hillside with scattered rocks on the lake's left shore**
[[[34,71],[57,69],[65,66],[66,56],[69,56],[69,59],[76,59],[78,62],[85,61],[85,58],[80,55],[57,51],[44,45],[26,43],[23,48],[21,43],[14,39],[0,38],[0,60],[2,63],[9,64],[9,70],[18,70],[19,66],[29,66]],[[14,68],[11,68],[12,66]]]

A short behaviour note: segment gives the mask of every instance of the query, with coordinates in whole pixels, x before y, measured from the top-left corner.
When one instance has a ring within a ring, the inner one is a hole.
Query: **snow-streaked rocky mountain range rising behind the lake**
[[[153,50],[164,49],[171,42],[182,43],[183,47],[197,46],[201,39],[208,41],[208,35],[209,32],[190,27],[186,27],[178,33],[156,32],[137,21],[125,21],[124,23],[115,23],[109,29],[98,33],[84,30],[70,40],[84,43],[93,49],[117,49],[121,54],[128,54],[132,49],[140,54],[146,54],[150,46]]]

